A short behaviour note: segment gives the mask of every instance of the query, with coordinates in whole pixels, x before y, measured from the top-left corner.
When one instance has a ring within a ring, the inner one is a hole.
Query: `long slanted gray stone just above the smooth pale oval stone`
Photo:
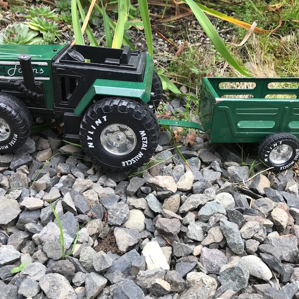
[[[241,237],[238,225],[233,222],[221,219],[220,228],[226,238],[228,247],[234,253],[241,255],[244,251],[244,242]]]

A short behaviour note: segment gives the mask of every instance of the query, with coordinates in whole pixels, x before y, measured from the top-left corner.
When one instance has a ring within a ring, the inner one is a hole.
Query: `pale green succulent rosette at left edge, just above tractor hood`
[[[11,24],[0,31],[0,44],[36,44],[42,40],[38,34],[25,24]]]

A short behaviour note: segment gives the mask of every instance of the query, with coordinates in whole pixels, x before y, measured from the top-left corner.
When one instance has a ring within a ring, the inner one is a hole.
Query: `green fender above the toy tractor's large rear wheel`
[[[88,90],[86,95],[76,107],[74,111],[75,115],[82,114],[96,95],[101,95],[104,97],[140,99],[145,103],[149,102],[152,74],[153,61],[148,56],[143,82],[96,79],[92,87]]]

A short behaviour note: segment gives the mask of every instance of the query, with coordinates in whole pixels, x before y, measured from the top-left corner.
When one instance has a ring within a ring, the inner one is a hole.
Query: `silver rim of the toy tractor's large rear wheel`
[[[105,150],[116,155],[130,153],[137,144],[137,137],[134,131],[123,124],[107,126],[102,131],[100,140]]]

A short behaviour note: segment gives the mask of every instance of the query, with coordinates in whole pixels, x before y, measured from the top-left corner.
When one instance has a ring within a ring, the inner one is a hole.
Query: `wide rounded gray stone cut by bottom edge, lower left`
[[[39,280],[39,286],[49,299],[77,299],[68,280],[58,273],[49,273]]]

